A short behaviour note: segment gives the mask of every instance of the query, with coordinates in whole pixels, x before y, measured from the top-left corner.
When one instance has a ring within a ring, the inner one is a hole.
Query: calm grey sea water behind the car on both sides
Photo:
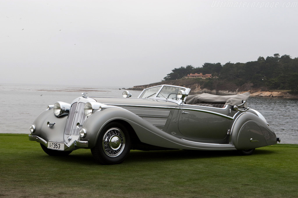
[[[122,86],[0,84],[0,133],[30,134],[29,127],[46,107],[71,103],[81,93],[88,96],[122,97]],[[131,91],[138,97],[141,91]],[[259,111],[280,143],[298,144],[298,99],[250,97],[247,106]]]

